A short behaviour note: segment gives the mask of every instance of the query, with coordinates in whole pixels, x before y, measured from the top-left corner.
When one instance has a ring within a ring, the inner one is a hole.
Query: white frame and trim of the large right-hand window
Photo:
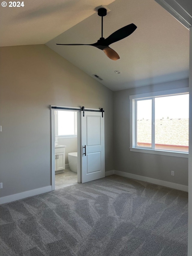
[[[188,87],[160,91],[160,92],[149,92],[149,93],[143,93],[143,94],[129,96],[129,99],[130,99],[130,151],[188,158],[188,155],[189,155],[188,152],[155,149],[155,140],[154,140],[154,132],[155,132],[155,123],[154,123],[154,111],[155,111],[154,105],[155,104],[154,104],[154,101],[155,101],[155,98],[171,96],[171,95],[186,94],[186,93],[189,93]],[[146,100],[146,99],[152,99],[152,146],[151,147],[136,146],[136,141],[137,141],[137,101],[138,100]]]

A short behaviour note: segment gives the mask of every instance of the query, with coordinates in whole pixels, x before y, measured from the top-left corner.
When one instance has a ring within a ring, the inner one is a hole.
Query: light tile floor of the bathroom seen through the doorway
[[[66,168],[64,173],[55,174],[55,189],[64,188],[77,183],[77,173],[72,172],[70,168]]]

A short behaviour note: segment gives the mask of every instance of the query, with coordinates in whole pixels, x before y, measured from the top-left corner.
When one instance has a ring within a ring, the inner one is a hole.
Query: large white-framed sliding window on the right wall
[[[188,88],[130,96],[130,150],[187,157]]]

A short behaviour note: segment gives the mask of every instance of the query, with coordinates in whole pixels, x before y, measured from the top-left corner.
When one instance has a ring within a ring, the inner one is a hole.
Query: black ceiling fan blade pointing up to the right
[[[135,29],[137,29],[137,26],[133,23],[118,29],[116,32],[114,32],[113,34],[111,34],[108,38],[105,39],[105,43],[107,45],[113,44],[129,35],[131,35]]]

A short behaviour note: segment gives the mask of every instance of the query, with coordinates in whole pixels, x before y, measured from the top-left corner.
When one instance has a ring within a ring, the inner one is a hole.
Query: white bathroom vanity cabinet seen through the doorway
[[[64,145],[55,146],[55,174],[63,173],[65,169],[65,147]]]

